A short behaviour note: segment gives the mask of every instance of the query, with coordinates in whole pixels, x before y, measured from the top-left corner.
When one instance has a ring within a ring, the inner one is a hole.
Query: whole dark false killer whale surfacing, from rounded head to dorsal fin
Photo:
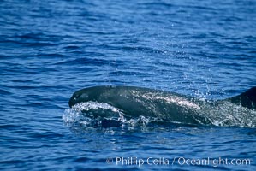
[[[101,85],[74,92],[68,104],[72,108],[79,103],[87,102],[106,103],[119,109],[126,118],[143,115],[162,121],[204,125],[215,125],[214,121],[217,119],[222,120],[223,125],[240,121],[245,122],[243,125],[247,126],[246,122],[249,121],[253,123],[252,127],[256,123],[256,87],[235,97],[202,101],[170,91],[135,86]],[[236,111],[241,111],[241,115],[244,116],[239,116]],[[106,115],[106,113],[101,114],[102,117]],[[230,115],[234,117],[229,119]]]

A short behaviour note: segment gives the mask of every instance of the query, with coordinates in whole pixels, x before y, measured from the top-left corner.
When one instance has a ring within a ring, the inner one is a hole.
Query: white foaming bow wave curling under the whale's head
[[[147,126],[149,123],[160,123],[158,118],[139,117],[131,118],[108,103],[86,102],[77,103],[70,109],[65,109],[63,122],[66,126],[79,124],[82,127],[131,127]]]

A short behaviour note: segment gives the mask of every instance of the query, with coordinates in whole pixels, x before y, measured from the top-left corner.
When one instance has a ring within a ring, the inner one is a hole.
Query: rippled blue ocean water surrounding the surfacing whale
[[[74,91],[92,85],[238,95],[256,85],[255,30],[254,0],[0,1],[0,169],[255,170],[255,127],[102,128],[63,117]],[[152,164],[163,157],[168,165]],[[219,157],[229,164],[182,161]]]

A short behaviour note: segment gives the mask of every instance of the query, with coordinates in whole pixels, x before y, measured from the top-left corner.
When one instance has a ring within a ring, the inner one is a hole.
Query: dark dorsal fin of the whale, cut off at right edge
[[[248,109],[256,109],[256,86],[241,93],[241,95],[230,97],[228,100]]]

